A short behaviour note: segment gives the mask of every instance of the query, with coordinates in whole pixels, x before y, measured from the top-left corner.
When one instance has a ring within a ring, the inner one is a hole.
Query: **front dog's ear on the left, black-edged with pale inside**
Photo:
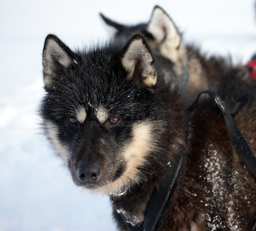
[[[57,36],[47,35],[43,50],[45,89],[54,86],[60,73],[74,63],[74,58],[74,53]]]

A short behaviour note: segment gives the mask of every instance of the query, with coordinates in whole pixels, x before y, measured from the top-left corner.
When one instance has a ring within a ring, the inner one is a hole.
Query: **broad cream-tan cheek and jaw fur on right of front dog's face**
[[[138,167],[146,166],[148,163],[146,157],[157,147],[154,146],[156,138],[152,132],[153,126],[137,124],[133,126],[132,142],[126,145],[122,158],[126,161],[126,170],[124,174],[114,182],[102,187],[99,191],[103,193],[120,193],[127,186],[141,181]]]

